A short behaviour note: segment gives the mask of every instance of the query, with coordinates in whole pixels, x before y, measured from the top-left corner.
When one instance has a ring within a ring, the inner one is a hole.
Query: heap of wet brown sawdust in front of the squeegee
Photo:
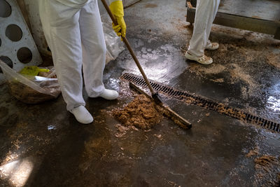
[[[145,95],[138,95],[124,109],[113,112],[113,115],[125,126],[151,129],[162,121],[163,110]]]

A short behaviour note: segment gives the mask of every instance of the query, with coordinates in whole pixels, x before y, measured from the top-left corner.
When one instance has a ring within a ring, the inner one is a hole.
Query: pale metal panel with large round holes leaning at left
[[[15,71],[42,59],[15,0],[0,0],[0,59]],[[0,71],[0,84],[4,82]]]

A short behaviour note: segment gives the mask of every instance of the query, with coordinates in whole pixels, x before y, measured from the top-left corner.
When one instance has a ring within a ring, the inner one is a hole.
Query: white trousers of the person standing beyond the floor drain
[[[197,0],[195,27],[188,53],[197,57],[204,55],[205,47],[210,44],[209,35],[219,4],[220,0]]]

